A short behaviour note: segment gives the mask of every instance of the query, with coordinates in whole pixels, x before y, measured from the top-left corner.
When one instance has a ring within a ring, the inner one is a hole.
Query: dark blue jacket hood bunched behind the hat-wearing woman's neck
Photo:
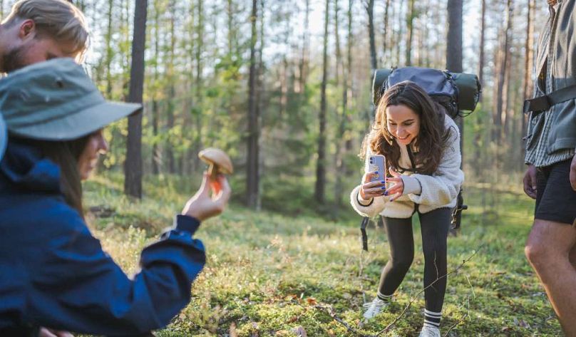
[[[0,162],[0,189],[13,185],[32,192],[60,193],[60,167],[35,147],[10,140]]]

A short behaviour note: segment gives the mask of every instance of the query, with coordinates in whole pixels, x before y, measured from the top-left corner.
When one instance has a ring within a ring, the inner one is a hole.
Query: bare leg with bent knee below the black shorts
[[[576,270],[570,261],[575,244],[576,229],[570,224],[535,219],[525,247],[526,257],[569,337],[576,337]]]

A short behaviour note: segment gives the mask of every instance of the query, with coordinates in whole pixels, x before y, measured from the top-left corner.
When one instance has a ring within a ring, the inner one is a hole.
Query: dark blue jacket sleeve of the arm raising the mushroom
[[[122,336],[166,326],[190,301],[192,281],[205,264],[202,242],[192,238],[197,219],[178,215],[158,242],[143,249],[140,272],[130,279],[75,211],[59,216],[68,221],[42,224],[56,229],[30,261],[27,321]]]

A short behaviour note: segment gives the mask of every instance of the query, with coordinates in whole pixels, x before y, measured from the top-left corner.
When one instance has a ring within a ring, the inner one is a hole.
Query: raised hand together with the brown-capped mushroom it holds
[[[204,173],[200,190],[190,198],[182,214],[204,221],[224,211],[230,199],[230,185],[224,176],[233,172],[232,161],[222,150],[207,148],[200,151],[198,157],[207,162],[210,167]],[[212,190],[212,197],[210,197]]]

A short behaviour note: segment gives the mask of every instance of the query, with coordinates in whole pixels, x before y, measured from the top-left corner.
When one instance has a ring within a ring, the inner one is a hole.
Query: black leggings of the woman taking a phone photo
[[[424,287],[438,279],[424,291],[428,311],[442,311],[446,293],[446,239],[450,229],[451,212],[449,208],[434,209],[428,213],[418,212],[424,252]],[[391,295],[400,286],[414,259],[412,218],[384,217],[384,225],[388,234],[390,259],[382,269],[379,292]]]

